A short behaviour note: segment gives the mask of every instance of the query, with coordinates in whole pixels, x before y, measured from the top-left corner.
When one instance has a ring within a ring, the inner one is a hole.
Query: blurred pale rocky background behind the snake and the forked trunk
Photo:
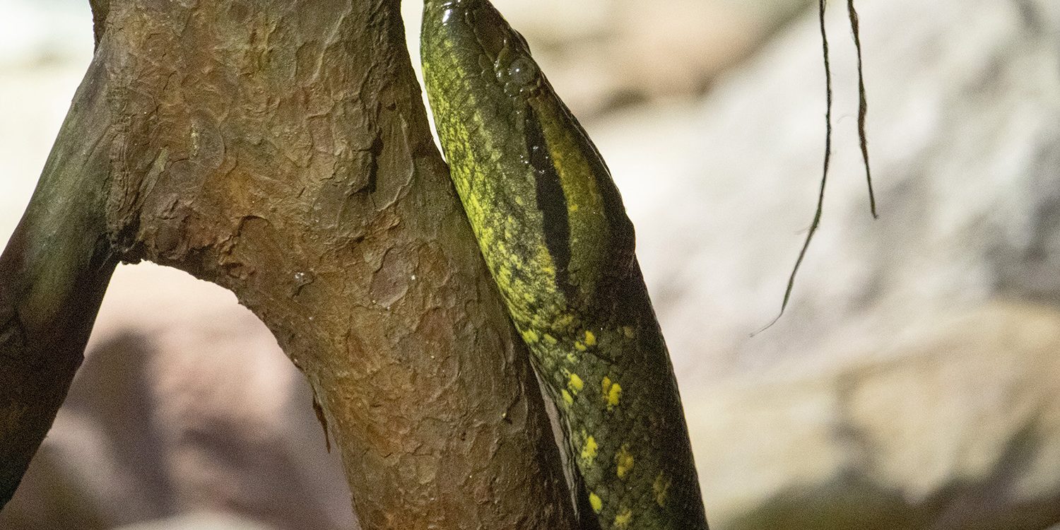
[[[495,0],[607,159],[711,528],[1060,524],[1060,4],[844,2],[822,231],[816,2]],[[420,4],[405,2],[416,51]],[[91,58],[86,0],[0,0],[0,242]],[[418,63],[418,61],[413,61]],[[355,527],[301,375],[230,293],[119,267],[4,529]]]

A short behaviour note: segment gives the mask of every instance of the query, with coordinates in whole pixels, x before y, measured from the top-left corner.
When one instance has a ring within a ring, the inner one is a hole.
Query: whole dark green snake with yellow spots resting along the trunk
[[[583,528],[707,528],[633,226],[596,147],[488,0],[426,0],[435,124],[479,247],[560,411]]]

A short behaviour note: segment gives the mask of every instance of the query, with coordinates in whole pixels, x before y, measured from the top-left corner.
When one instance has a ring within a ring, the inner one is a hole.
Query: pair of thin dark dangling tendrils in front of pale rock
[[[770,321],[770,323],[765,324],[755,333],[752,333],[750,336],[758,335],[759,333],[770,329],[773,324],[780,320],[780,317],[784,315],[784,311],[788,308],[788,302],[791,301],[792,289],[795,288],[795,277],[798,275],[799,268],[802,266],[802,260],[806,258],[807,250],[810,248],[810,243],[813,241],[813,236],[817,233],[817,229],[820,227],[820,217],[825,209],[825,189],[828,183],[828,170],[832,160],[832,66],[831,55],[828,50],[828,31],[825,24],[826,1],[827,0],[819,0],[817,3],[817,18],[820,22],[822,56],[825,61],[825,161],[820,174],[820,190],[817,193],[817,209],[814,211],[813,220],[810,223],[810,228],[807,231],[806,241],[802,242],[802,248],[799,250],[798,258],[795,260],[795,266],[792,267],[791,276],[788,277],[788,286],[784,289],[784,299],[780,304],[780,313],[778,313],[777,316]],[[872,218],[879,218],[880,216],[876,210],[876,193],[872,191],[872,172],[870,171],[868,163],[868,140],[865,135],[865,117],[868,113],[868,100],[865,96],[865,75],[862,63],[861,30],[858,19],[858,11],[854,8],[854,0],[847,0],[847,15],[850,19],[850,31],[853,34],[854,49],[858,52],[858,140],[861,144],[862,161],[865,165],[865,180],[868,184],[869,212],[872,214]]]

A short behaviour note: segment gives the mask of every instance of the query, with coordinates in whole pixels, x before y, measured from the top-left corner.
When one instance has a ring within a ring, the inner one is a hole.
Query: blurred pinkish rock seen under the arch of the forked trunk
[[[355,527],[308,387],[265,326],[184,272],[120,267],[0,528],[111,528],[190,511]]]

